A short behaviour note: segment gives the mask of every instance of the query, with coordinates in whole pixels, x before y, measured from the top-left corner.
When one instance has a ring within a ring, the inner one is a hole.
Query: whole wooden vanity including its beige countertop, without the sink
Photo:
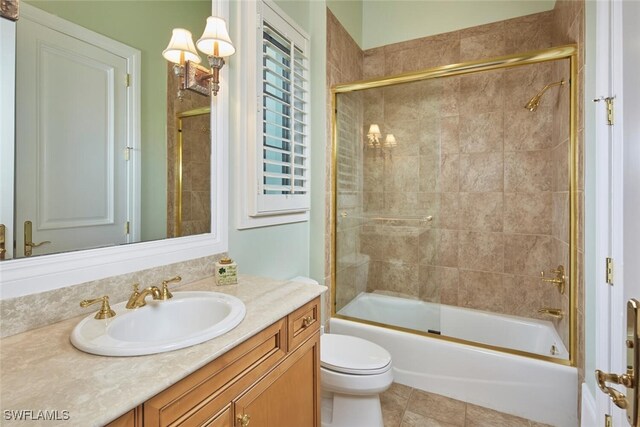
[[[245,319],[192,347],[137,357],[83,353],[80,318],[4,338],[1,406],[58,411],[72,425],[319,426],[320,298],[324,286],[241,276],[179,290],[240,298]],[[34,412],[35,413],[35,412]],[[3,425],[23,422],[7,419]]]

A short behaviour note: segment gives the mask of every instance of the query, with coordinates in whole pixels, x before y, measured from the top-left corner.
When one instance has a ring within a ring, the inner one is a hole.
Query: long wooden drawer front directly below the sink
[[[286,343],[286,323],[281,319],[145,402],[145,426],[213,422],[211,414],[222,411],[286,356]]]

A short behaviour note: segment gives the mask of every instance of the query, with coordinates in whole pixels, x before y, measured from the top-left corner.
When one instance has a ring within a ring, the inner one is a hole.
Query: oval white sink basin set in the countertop
[[[82,319],[71,333],[79,350],[102,356],[141,356],[200,344],[238,326],[246,313],[238,298],[218,292],[174,292],[173,298],[137,309],[125,302],[111,308],[116,316]]]

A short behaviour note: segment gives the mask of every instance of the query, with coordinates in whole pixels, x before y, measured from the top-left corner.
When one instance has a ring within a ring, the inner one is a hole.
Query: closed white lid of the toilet
[[[379,345],[362,338],[323,334],[320,337],[320,365],[346,374],[380,374],[390,369],[391,355]]]

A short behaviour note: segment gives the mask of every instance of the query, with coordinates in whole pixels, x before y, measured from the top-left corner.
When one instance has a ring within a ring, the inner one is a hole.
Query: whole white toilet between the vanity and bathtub
[[[392,382],[384,348],[348,335],[320,337],[322,427],[384,427],[379,394]]]

